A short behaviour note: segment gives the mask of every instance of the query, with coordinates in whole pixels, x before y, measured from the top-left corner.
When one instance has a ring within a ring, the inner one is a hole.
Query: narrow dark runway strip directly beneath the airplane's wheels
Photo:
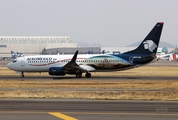
[[[75,76],[0,76],[0,80],[178,80],[178,76],[94,76],[76,78]]]

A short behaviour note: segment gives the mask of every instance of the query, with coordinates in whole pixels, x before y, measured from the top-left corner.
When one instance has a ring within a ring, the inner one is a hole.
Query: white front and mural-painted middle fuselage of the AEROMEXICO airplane
[[[38,55],[25,56],[15,59],[7,65],[8,68],[19,72],[48,72],[51,67],[63,67],[71,61],[73,55]],[[76,59],[78,65],[95,65],[98,70],[116,70],[113,65],[130,65],[130,62],[122,59],[111,57],[111,55],[78,55]],[[119,66],[118,66],[119,69]]]

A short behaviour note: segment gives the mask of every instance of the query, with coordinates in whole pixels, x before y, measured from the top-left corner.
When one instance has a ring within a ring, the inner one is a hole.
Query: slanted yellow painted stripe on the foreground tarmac
[[[64,114],[59,113],[59,112],[49,112],[48,114],[51,114],[55,117],[58,117],[58,118],[61,118],[61,119],[64,119],[64,120],[77,120],[76,118],[64,115]]]

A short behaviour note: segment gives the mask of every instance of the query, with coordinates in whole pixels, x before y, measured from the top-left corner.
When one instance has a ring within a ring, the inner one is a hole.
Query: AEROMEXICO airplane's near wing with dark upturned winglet
[[[78,65],[76,63],[78,51],[75,52],[72,60],[67,63],[63,68],[66,71],[71,71],[71,72],[90,72],[90,71],[95,71],[95,68],[88,66],[88,65]]]

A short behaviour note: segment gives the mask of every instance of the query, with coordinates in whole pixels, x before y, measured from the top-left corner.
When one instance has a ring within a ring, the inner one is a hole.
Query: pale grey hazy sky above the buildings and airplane
[[[69,36],[128,46],[164,22],[161,41],[178,45],[178,0],[0,0],[0,36]]]

